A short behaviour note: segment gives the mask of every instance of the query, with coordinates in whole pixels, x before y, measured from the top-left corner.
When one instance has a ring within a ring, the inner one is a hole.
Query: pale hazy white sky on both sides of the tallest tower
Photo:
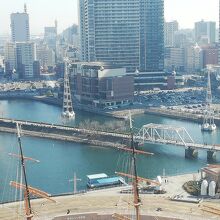
[[[0,0],[0,33],[10,33],[10,14],[22,12],[27,3],[32,34],[58,20],[59,32],[78,23],[78,0]],[[106,0],[108,1],[108,0]],[[193,28],[201,19],[218,21],[218,0],[164,0],[166,21],[177,20],[181,28]]]

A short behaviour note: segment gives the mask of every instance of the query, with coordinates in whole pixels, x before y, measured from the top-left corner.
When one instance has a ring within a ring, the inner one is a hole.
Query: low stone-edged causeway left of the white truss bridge
[[[126,136],[114,136],[113,133],[102,131],[91,131],[68,126],[50,125],[46,123],[35,123],[0,119],[0,131],[16,133],[16,123],[21,124],[22,134],[32,137],[48,138],[62,141],[72,141],[82,144],[96,145],[102,147],[124,147]],[[111,135],[112,134],[112,135]],[[123,144],[122,144],[123,143]]]

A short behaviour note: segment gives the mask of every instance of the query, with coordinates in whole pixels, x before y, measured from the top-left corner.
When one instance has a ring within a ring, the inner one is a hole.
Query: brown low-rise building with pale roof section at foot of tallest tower
[[[125,68],[111,68],[102,62],[77,62],[71,67],[74,96],[82,104],[118,106],[133,101],[134,77]]]

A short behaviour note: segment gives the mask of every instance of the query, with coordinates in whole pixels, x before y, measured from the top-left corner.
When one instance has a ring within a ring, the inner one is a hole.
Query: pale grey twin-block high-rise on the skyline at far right
[[[216,23],[213,21],[199,21],[195,23],[195,40],[201,44],[215,43]]]

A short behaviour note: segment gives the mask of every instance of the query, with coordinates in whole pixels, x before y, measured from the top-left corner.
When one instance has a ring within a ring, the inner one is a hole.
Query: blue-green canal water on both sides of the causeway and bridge
[[[62,124],[60,113],[59,107],[40,102],[0,101],[0,117]],[[147,123],[169,124],[185,127],[198,143],[220,142],[220,130],[204,134],[200,125],[194,122],[152,115],[139,115],[133,119],[136,130]],[[79,125],[86,120],[107,123],[114,119],[76,112],[76,118],[70,124]],[[0,140],[0,202],[5,202],[14,200],[15,190],[9,186],[9,182],[16,179],[18,159],[8,154],[18,152],[18,146],[16,135],[0,133]],[[122,166],[128,165],[129,155],[114,149],[33,137],[22,137],[22,144],[25,156],[40,160],[40,163],[26,161],[28,183],[50,194],[72,192],[73,182],[70,180],[74,172],[81,179],[77,181],[77,189],[83,190],[86,188],[86,175],[104,172],[111,176],[115,171],[121,171]],[[145,144],[143,148],[154,153],[153,156],[137,156],[138,173],[146,178],[155,178],[164,173],[197,172],[207,164],[206,151],[203,150],[199,151],[198,159],[189,160],[185,159],[182,147]],[[217,161],[220,161],[220,153],[217,154]]]

